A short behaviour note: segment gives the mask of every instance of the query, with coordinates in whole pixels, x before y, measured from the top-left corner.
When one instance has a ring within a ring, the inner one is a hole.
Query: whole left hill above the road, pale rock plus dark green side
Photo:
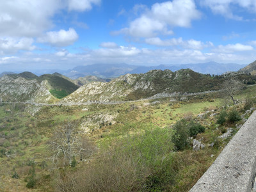
[[[0,77],[0,98],[9,102],[54,102],[79,88],[63,77],[46,74],[36,76],[31,72],[8,74]]]

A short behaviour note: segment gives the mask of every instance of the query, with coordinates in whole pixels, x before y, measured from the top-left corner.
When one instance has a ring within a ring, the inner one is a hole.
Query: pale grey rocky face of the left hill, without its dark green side
[[[8,102],[50,102],[54,100],[46,87],[47,81],[17,76],[0,77],[0,98]]]

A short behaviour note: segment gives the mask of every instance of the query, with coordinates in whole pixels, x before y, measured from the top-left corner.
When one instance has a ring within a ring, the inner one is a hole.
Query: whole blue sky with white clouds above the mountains
[[[0,72],[255,60],[255,0],[0,0]]]

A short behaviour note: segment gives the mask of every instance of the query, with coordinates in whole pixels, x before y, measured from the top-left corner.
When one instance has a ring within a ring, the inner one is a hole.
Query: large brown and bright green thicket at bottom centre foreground
[[[147,127],[108,138],[93,164],[54,177],[59,179],[56,191],[168,191],[175,175],[172,134],[172,129]]]

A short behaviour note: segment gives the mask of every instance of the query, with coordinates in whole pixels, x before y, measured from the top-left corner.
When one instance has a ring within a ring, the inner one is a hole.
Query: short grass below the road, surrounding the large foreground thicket
[[[252,95],[256,91],[256,86],[249,87],[237,98],[245,98],[246,95]],[[211,97],[212,98],[212,97]],[[115,119],[116,124],[104,125],[101,129],[95,129],[90,134],[92,140],[101,143],[104,138],[115,139],[118,135],[134,134],[134,132],[143,127],[169,127],[177,120],[184,116],[184,113],[189,111],[196,116],[209,108],[223,105],[223,100],[213,99],[209,102],[207,95],[203,99],[191,97],[186,101],[170,102],[168,99],[161,99],[159,103],[148,105],[146,102],[136,102],[138,108],[131,108],[131,104],[120,105],[91,105],[91,106],[67,106],[67,107],[43,107],[35,116],[31,116],[24,111],[20,111],[19,106],[16,108],[13,105],[0,106],[0,135],[5,134],[10,145],[0,145],[0,151],[9,151],[15,156],[6,157],[4,153],[0,158],[0,182],[4,181],[4,186],[10,191],[19,189],[26,190],[26,182],[24,179],[29,175],[30,161],[36,162],[36,177],[38,178],[37,187],[51,190],[51,178],[49,171],[42,168],[40,164],[46,161],[51,168],[49,151],[45,145],[48,138],[51,136],[53,127],[60,125],[63,120],[71,117],[72,119],[83,119],[92,116],[95,113],[118,113]],[[213,101],[213,102],[212,102]],[[21,106],[22,107],[22,106]],[[83,108],[88,108],[88,111],[83,111]],[[5,109],[11,109],[11,112],[6,112]],[[204,137],[204,143],[211,143],[213,138],[221,134],[220,130],[216,129],[214,117],[207,117],[200,120],[201,124],[207,127],[204,134],[199,134],[198,139]],[[125,126],[125,125],[131,125]],[[135,126],[135,128],[134,128]],[[98,127],[99,128],[99,127]],[[102,139],[103,138],[103,139]],[[225,141],[227,143],[227,141]],[[218,148],[205,148],[199,152],[193,150],[185,150],[177,152],[179,156],[179,170],[175,177],[175,184],[172,186],[172,191],[188,191],[196,180],[207,170],[218,156],[220,150]],[[214,154],[214,157],[210,157]],[[12,179],[13,167],[16,168],[20,175],[20,179]],[[4,177],[3,177],[4,176]],[[49,179],[49,177],[51,179]],[[40,181],[40,182],[39,182]],[[14,183],[14,184],[10,184]],[[41,184],[40,184],[41,183]]]

